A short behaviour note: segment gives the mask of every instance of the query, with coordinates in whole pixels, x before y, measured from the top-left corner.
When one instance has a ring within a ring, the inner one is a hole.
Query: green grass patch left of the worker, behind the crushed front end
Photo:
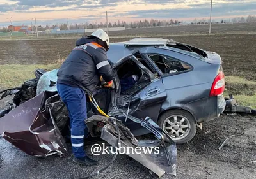
[[[49,71],[59,67],[60,64],[0,65],[0,87],[2,89],[19,87],[22,82],[35,78],[35,69],[41,68]]]

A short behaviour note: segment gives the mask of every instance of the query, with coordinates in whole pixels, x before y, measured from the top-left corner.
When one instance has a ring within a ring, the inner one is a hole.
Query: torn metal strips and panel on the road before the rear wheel
[[[86,120],[86,125],[89,127],[90,134],[92,136],[97,136],[97,128],[99,127],[97,124],[99,122],[103,122],[104,127],[102,127],[101,138],[107,141],[110,145],[115,147],[118,141],[118,132],[115,129],[115,124],[113,124],[112,120],[109,120],[108,117],[102,117],[99,115],[93,115],[92,117]],[[120,133],[120,145],[121,147],[161,147],[159,150],[159,154],[150,154],[141,153],[141,154],[126,154],[129,157],[132,157],[136,161],[143,164],[143,166],[150,169],[152,175],[156,175],[158,178],[161,178],[164,174],[166,175],[176,175],[176,160],[177,160],[177,149],[173,140],[165,134],[158,125],[153,122],[150,118],[146,118],[145,120],[140,120],[140,124],[144,127],[150,129],[150,131],[155,135],[157,140],[145,140],[140,141],[137,140],[131,131],[125,127],[124,124],[120,120],[116,120],[114,118],[118,126],[118,130]],[[94,127],[93,127],[94,126]],[[99,133],[98,133],[99,135]]]

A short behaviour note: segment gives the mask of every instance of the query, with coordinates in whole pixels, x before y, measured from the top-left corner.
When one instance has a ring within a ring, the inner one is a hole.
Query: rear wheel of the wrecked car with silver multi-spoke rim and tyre
[[[196,134],[195,118],[188,111],[166,111],[157,123],[177,144],[187,143]]]

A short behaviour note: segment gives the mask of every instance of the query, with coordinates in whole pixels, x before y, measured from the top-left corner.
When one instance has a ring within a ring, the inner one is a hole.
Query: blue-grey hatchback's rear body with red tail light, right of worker
[[[112,43],[108,58],[118,77],[107,111],[135,136],[148,130],[131,117],[150,117],[176,143],[186,143],[198,124],[225,110],[223,62],[215,52],[173,40],[136,38]]]

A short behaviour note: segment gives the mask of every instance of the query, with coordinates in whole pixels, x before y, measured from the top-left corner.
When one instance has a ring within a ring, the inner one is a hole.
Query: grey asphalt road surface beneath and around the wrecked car
[[[6,99],[8,101],[8,99]],[[0,108],[3,108],[0,101]],[[249,124],[249,125],[248,125]],[[177,146],[177,179],[255,179],[256,178],[256,117],[221,116],[207,122],[189,143]],[[227,145],[218,150],[225,138]],[[90,154],[90,147],[86,148]],[[91,175],[105,166],[110,154],[95,156],[98,166],[78,166],[72,156],[60,158],[32,157],[0,136],[0,179],[78,179]],[[125,154],[120,154],[106,171],[95,178],[152,178],[148,169]],[[164,175],[163,179],[174,178]]]

